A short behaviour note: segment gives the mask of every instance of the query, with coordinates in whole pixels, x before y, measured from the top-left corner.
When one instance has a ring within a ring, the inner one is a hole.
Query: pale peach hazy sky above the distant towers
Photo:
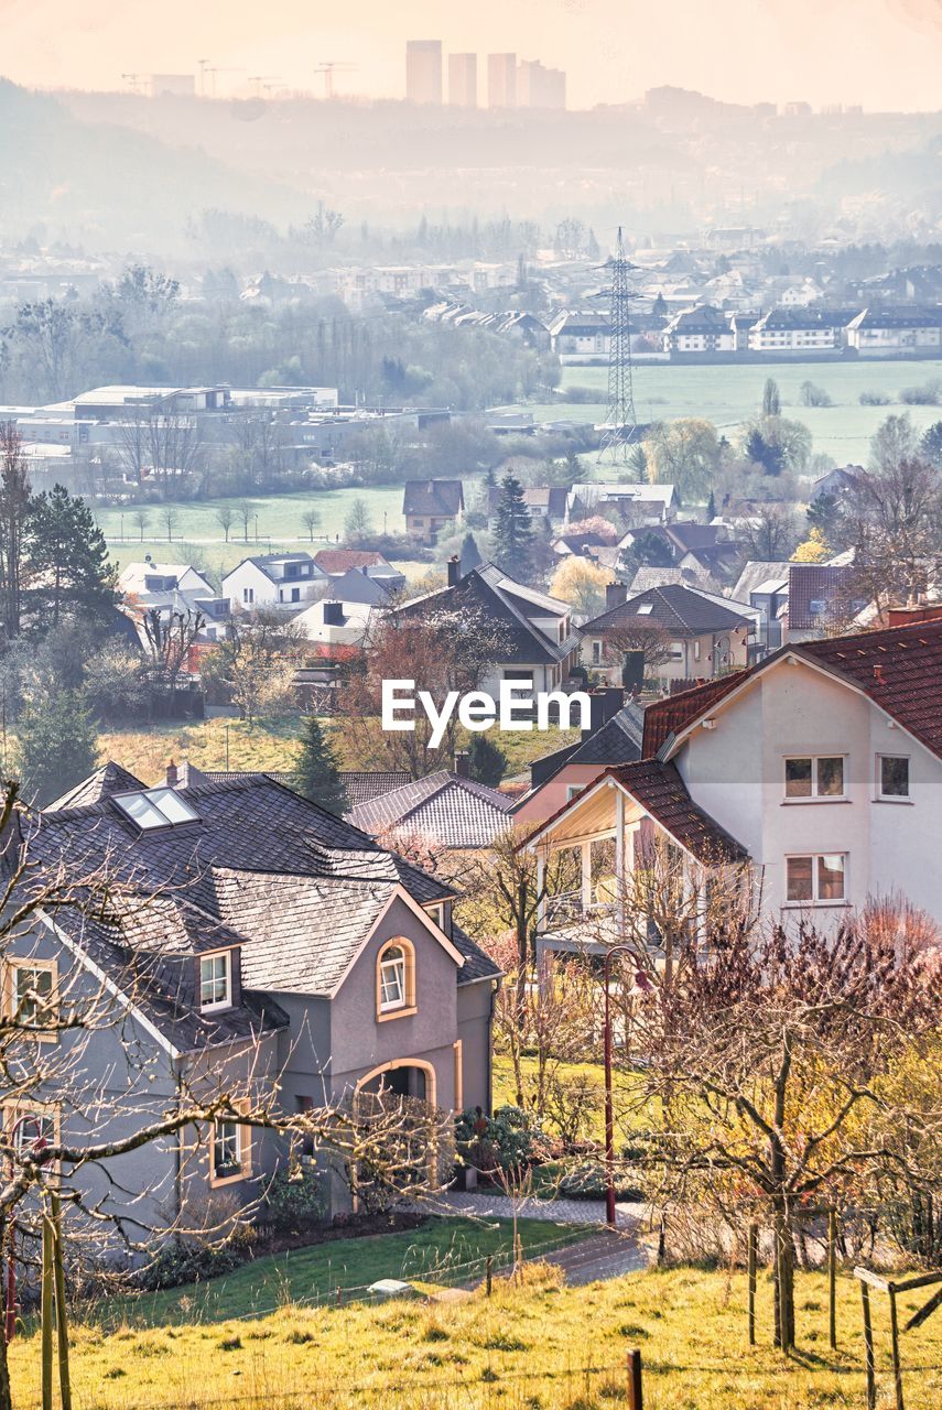
[[[220,93],[269,75],[400,97],[405,38],[515,49],[567,69],[570,106],[660,83],[730,102],[942,107],[942,0],[0,0],[0,72],[45,87],[121,87],[121,75],[195,72]]]

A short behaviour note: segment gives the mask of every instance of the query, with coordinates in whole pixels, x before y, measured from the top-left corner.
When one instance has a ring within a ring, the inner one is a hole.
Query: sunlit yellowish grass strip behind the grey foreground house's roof
[[[197,768],[289,770],[293,767],[299,730],[299,718],[257,721],[252,726],[238,719],[189,723],[173,721],[138,729],[106,730],[99,736],[99,747],[102,760],[113,759],[149,783],[162,773],[171,757],[178,763],[186,759]],[[494,729],[488,733],[488,739],[508,756],[508,777],[522,773],[532,759],[574,743],[577,737],[577,730],[527,733]],[[338,723],[334,725],[334,739],[344,766],[358,768],[358,760],[345,749],[347,740]]]

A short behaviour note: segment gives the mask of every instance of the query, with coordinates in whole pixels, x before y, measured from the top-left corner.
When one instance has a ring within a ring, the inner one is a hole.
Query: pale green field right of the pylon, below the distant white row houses
[[[825,451],[839,464],[864,464],[870,437],[890,415],[910,412],[918,427],[942,420],[942,406],[904,406],[898,402],[903,388],[922,386],[942,378],[942,362],[776,362],[742,367],[677,365],[649,362],[635,368],[635,409],[639,422],[671,420],[677,416],[702,416],[729,434],[753,416],[761,403],[766,378],[778,384],[783,413],[802,420],[814,436],[814,448]],[[802,382],[822,386],[833,406],[802,406]],[[605,413],[608,368],[567,367],[561,388],[597,386],[601,400],[564,402],[527,406],[537,420],[567,417],[598,422]],[[890,406],[860,406],[860,392],[881,392],[893,398]]]

